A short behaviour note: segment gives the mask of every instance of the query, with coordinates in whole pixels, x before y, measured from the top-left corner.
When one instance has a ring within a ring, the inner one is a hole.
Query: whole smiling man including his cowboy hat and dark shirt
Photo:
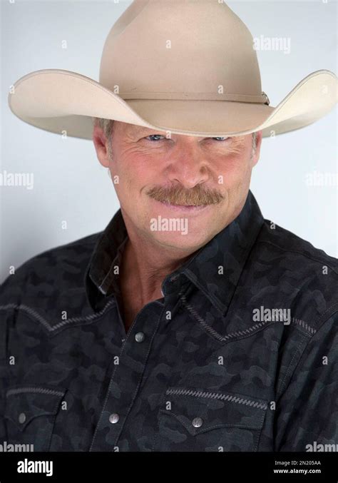
[[[265,220],[250,191],[262,137],[323,116],[336,86],[318,71],[271,108],[240,19],[165,0],[114,24],[101,83],[52,70],[16,83],[18,117],[93,138],[121,210],[2,285],[1,439],[91,452],[338,443],[337,260]]]

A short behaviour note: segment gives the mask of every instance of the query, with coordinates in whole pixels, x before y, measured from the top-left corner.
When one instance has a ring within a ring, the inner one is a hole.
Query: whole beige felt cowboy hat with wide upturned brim
[[[22,121],[92,139],[93,117],[190,136],[294,131],[337,102],[337,76],[310,73],[276,106],[262,92],[247,26],[221,0],[135,0],[103,46],[99,81],[43,69],[9,93]]]

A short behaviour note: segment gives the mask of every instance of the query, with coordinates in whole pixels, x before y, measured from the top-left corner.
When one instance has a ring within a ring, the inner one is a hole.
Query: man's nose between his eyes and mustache
[[[205,183],[210,177],[208,161],[196,146],[196,140],[186,141],[170,151],[169,164],[166,168],[168,180],[178,182],[185,188],[193,188]]]

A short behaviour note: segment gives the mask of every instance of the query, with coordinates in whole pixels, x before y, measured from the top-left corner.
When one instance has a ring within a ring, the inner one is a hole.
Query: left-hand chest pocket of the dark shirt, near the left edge
[[[48,451],[65,394],[65,388],[48,385],[9,387],[4,410],[7,444],[33,444],[28,451]]]

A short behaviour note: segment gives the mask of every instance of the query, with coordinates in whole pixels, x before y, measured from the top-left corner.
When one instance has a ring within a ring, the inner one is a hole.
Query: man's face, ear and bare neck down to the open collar
[[[101,164],[121,180],[115,187],[128,231],[120,271],[128,329],[144,305],[161,297],[165,276],[239,215],[262,133],[168,139],[118,121],[113,132],[113,141],[107,141],[96,126],[93,141]],[[188,233],[180,223],[172,230],[150,230],[151,220],[165,217],[186,223]]]

